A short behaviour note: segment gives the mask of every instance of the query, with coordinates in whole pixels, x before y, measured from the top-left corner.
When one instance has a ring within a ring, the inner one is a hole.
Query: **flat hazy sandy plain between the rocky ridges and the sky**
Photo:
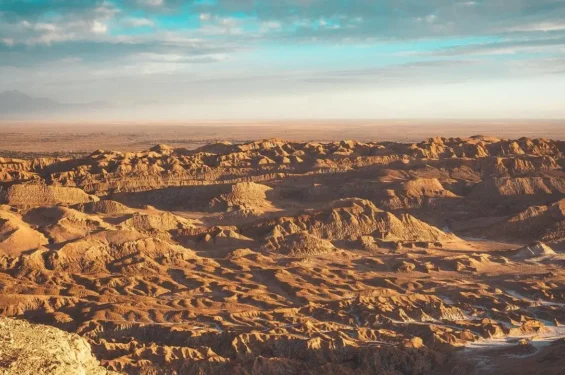
[[[565,139],[565,121],[310,120],[210,123],[29,123],[0,121],[0,153],[140,151],[164,143],[195,148],[215,141],[282,138],[295,141],[416,142],[428,137]]]

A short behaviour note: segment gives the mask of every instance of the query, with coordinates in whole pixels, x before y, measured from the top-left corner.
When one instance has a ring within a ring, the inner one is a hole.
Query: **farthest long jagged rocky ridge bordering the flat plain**
[[[97,195],[211,183],[261,183],[287,175],[405,162],[441,161],[458,164],[460,171],[471,165],[482,177],[508,177],[559,170],[564,149],[558,141],[489,137],[438,137],[414,144],[264,140],[241,145],[224,142],[196,150],[158,145],[143,152],[99,150],[81,159],[7,159],[0,162],[0,176],[5,176],[2,181],[80,187]]]

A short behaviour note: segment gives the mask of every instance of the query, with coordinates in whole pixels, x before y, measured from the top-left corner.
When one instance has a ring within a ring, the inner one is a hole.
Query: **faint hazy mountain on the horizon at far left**
[[[61,103],[49,98],[33,97],[21,91],[9,90],[0,93],[0,114],[36,114],[92,111],[110,108],[107,102]]]

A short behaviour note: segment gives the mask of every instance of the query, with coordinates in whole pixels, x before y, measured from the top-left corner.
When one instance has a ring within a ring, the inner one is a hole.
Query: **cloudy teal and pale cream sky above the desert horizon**
[[[565,0],[0,0],[0,92],[118,120],[565,118]]]

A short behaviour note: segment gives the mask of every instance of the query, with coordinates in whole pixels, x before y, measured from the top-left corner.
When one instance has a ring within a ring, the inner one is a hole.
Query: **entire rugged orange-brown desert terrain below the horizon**
[[[0,373],[565,372],[562,124],[358,125],[1,125]]]

